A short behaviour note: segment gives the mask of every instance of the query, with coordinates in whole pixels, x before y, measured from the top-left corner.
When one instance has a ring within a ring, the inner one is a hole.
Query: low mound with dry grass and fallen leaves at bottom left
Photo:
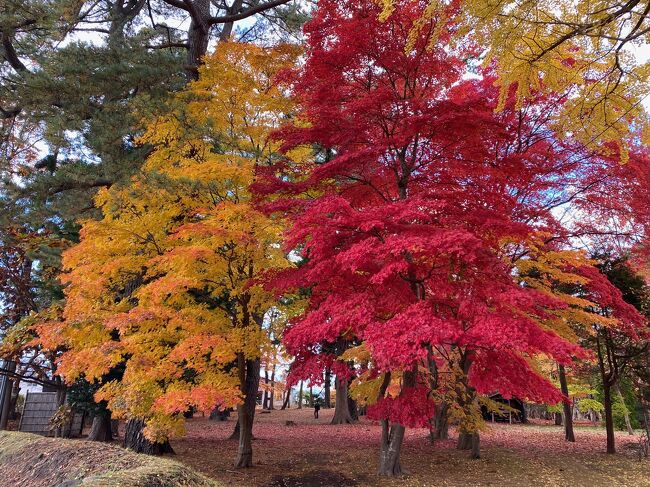
[[[0,432],[0,487],[219,487],[177,462],[119,446]]]

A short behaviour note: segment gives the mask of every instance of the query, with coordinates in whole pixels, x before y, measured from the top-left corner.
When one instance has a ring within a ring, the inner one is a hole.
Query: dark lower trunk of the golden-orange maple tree
[[[240,354],[238,359],[240,370],[240,388],[244,402],[237,406],[239,421],[239,448],[235,459],[236,468],[253,466],[253,421],[255,420],[255,406],[257,403],[257,390],[260,383],[260,360],[243,360]]]

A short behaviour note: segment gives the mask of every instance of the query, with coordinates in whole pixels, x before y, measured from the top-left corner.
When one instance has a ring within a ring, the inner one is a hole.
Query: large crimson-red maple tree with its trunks
[[[454,4],[423,25],[420,3],[395,5],[382,24],[373,1],[319,3],[292,83],[299,122],[280,136],[332,157],[302,177],[304,166],[275,168],[261,188],[285,197],[269,210],[294,215],[287,245],[305,256],[277,281],[310,289],[287,349],[305,371],[323,364],[323,342],[357,344],[340,362],[369,354],[359,371],[374,395],[368,415],[382,422],[382,475],[401,472],[405,427],[433,415],[435,368],[452,377],[459,447],[475,457],[481,395],[561,400],[530,359],[568,364],[583,352],[544,326],[565,303],[522,286],[513,262],[540,230],[566,241],[551,213],[557,188],[584,183],[592,163],[617,164],[554,139],[553,97],[522,107],[511,96],[495,114],[491,74],[463,81],[467,52],[443,48]]]

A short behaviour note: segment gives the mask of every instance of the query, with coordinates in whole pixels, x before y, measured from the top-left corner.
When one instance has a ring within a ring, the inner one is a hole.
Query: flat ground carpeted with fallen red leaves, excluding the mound
[[[409,474],[380,479],[375,475],[380,426],[365,419],[332,426],[332,414],[322,410],[318,420],[312,409],[258,414],[255,467],[245,471],[232,467],[237,441],[228,437],[234,419],[191,419],[187,436],[172,445],[177,461],[237,487],[650,486],[650,460],[640,460],[634,448],[640,432],[618,433],[619,453],[606,455],[604,429],[579,426],[572,444],[564,441],[561,427],[543,424],[489,424],[481,434],[479,460],[455,450],[453,430],[450,440],[435,445],[427,430],[407,430],[402,464]]]

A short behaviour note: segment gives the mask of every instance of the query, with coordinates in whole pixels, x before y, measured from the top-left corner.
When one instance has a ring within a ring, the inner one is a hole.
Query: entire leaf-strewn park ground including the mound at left
[[[172,441],[176,455],[138,455],[113,445],[0,432],[0,487],[650,487],[650,460],[636,436],[618,433],[619,453],[606,455],[602,428],[578,427],[567,443],[561,427],[489,424],[482,458],[455,450],[454,436],[432,445],[424,429],[407,430],[402,464],[408,475],[375,475],[380,427],[364,418],[329,424],[333,411],[258,411],[255,467],[233,468],[235,420],[196,417]],[[287,425],[287,422],[291,425]],[[120,428],[123,431],[123,425]]]

